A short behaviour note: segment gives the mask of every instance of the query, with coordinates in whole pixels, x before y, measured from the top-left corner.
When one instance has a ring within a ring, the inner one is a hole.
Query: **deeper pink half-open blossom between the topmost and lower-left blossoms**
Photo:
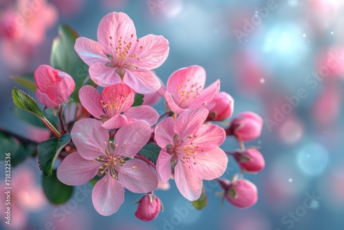
[[[148,105],[131,107],[134,92],[123,83],[105,87],[101,95],[94,87],[85,85],[79,91],[79,98],[90,114],[102,118],[107,129],[118,129],[137,120],[154,125],[159,118],[158,112]]]

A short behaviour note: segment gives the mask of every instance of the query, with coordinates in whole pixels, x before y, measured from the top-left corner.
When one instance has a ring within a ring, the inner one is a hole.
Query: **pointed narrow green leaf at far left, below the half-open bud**
[[[19,90],[17,87],[14,87],[12,90],[12,99],[14,105],[17,105],[19,108],[39,116],[40,118],[44,118],[43,113],[41,109],[39,109],[36,101],[34,101],[34,99],[25,92]]]

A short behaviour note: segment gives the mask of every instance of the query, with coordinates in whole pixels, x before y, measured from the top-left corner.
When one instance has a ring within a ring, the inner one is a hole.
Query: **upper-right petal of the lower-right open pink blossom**
[[[198,129],[197,138],[193,140],[194,145],[200,149],[213,149],[222,145],[226,139],[226,132],[222,127],[213,124],[204,124]]]

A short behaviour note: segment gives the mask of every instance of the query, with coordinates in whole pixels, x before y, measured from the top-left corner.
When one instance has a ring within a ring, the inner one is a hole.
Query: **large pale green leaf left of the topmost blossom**
[[[78,33],[68,25],[60,25],[58,36],[52,43],[52,54],[50,55],[50,65],[57,70],[66,72],[74,79],[76,87],[71,95],[74,102],[79,102],[78,91],[89,76],[89,66],[80,59],[74,50],[78,37]]]

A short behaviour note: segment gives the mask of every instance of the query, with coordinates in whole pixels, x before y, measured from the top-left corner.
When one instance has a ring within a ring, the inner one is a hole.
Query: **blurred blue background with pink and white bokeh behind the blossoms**
[[[1,0],[0,18],[25,1]],[[247,146],[260,146],[266,167],[245,176],[259,190],[257,204],[249,209],[228,202],[221,207],[221,198],[215,196],[221,189],[205,182],[208,206],[197,211],[171,181],[171,189],[155,193],[164,212],[152,222],[133,215],[136,205],[131,203],[140,194],[129,191],[120,210],[103,217],[92,206],[92,187],[87,185],[74,190],[74,196],[83,199],[74,197],[65,206],[25,209],[24,229],[343,229],[344,1],[36,1],[56,14],[41,19],[49,18],[50,23],[39,38],[30,37],[39,34],[34,25],[22,39],[1,34],[1,127],[23,136],[41,135],[12,115],[10,92],[15,84],[10,76],[49,64],[58,24],[67,23],[81,36],[96,40],[105,14],[125,12],[138,37],[161,34],[169,40],[169,57],[155,70],[164,83],[180,67],[202,65],[206,85],[220,79],[221,91],[235,99],[234,115],[253,111],[264,118],[261,137]],[[162,102],[157,107],[160,114]],[[228,122],[219,125],[226,127]],[[222,148],[238,146],[228,138]],[[37,163],[27,160],[25,167],[34,171],[39,186]],[[13,177],[20,177],[16,170]],[[226,178],[237,172],[230,159]],[[1,224],[4,227],[3,220]]]

